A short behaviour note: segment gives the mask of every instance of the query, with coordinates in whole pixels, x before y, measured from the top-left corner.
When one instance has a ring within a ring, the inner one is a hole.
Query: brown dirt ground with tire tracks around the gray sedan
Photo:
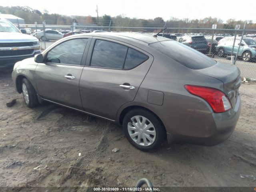
[[[222,144],[147,153],[106,120],[54,104],[26,107],[11,72],[0,72],[0,186],[135,186],[144,177],[154,186],[256,186],[240,177],[256,177],[256,84],[240,94],[239,122]]]

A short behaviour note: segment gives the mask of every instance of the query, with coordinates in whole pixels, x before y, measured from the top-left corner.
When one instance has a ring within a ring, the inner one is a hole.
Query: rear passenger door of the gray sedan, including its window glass
[[[134,100],[152,62],[150,54],[130,45],[93,38],[80,79],[84,110],[115,120],[118,109]]]

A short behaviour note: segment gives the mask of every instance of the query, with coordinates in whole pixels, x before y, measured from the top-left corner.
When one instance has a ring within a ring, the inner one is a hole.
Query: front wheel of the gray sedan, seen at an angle
[[[24,98],[26,105],[29,108],[34,108],[34,107],[38,106],[39,102],[37,99],[36,91],[35,91],[34,87],[32,86],[32,84],[26,78],[23,78],[21,86],[22,86],[23,98]]]

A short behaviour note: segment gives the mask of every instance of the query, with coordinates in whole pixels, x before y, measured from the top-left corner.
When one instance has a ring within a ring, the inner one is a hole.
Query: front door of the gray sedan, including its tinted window
[[[38,94],[59,104],[82,108],[79,80],[84,67],[83,55],[90,38],[72,38],[52,48],[45,55],[45,63],[36,67]]]

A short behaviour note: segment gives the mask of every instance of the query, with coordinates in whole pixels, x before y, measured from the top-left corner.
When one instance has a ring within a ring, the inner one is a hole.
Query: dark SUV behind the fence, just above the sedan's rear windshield
[[[179,38],[179,42],[203,53],[208,49],[208,42],[204,36],[184,35]]]

